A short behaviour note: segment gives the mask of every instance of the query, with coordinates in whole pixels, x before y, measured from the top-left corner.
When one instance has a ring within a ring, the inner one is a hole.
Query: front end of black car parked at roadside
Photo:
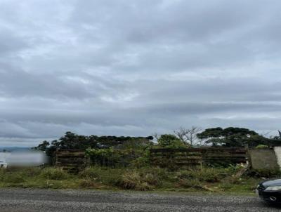
[[[265,180],[256,187],[259,197],[270,204],[281,204],[281,179]]]

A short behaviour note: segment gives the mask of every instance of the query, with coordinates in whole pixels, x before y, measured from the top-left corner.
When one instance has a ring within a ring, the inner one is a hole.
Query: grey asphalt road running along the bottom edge
[[[0,190],[1,212],[33,211],[281,211],[258,197],[105,192],[79,190]]]

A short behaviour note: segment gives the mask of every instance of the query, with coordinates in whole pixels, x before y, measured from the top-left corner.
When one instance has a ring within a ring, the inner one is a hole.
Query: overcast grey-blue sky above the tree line
[[[0,0],[0,146],[281,129],[281,2]]]

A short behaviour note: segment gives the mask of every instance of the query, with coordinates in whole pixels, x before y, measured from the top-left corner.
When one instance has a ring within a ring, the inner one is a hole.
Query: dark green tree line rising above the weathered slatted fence
[[[70,131],[66,132],[58,140],[50,142],[44,140],[35,150],[41,150],[52,155],[55,150],[60,149],[143,149],[146,147],[258,147],[281,145],[280,137],[266,138],[248,128],[201,128],[192,126],[190,129],[179,128],[174,134],[158,135],[154,133],[148,137],[130,136],[98,136],[98,135],[77,135]]]

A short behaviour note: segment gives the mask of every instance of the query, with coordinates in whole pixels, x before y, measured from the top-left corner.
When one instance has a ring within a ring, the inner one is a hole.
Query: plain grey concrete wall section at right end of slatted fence
[[[275,150],[273,149],[249,150],[249,155],[251,157],[251,166],[254,169],[275,169],[280,167],[278,166],[277,157],[275,156]]]

